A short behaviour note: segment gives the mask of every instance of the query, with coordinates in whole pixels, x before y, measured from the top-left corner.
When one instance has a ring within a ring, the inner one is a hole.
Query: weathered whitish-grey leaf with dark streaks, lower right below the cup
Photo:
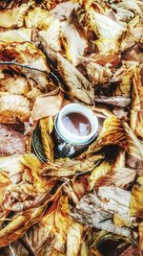
[[[94,194],[88,194],[84,196],[73,209],[72,217],[76,221],[80,221],[91,227],[131,238],[131,228],[115,226],[112,221],[112,213],[114,211],[121,213],[128,212],[130,193],[128,194],[127,191],[122,190],[122,192],[118,191],[119,194],[122,194],[122,196],[124,195],[124,192],[126,192],[127,194],[127,197],[124,195],[126,199],[123,202],[121,195],[116,195],[117,188],[115,189],[116,191],[114,191],[112,195],[110,195],[111,188],[109,187],[109,191],[107,189],[106,196],[107,199],[109,199],[109,202],[104,201],[106,196],[103,195],[101,192],[99,193],[99,197],[102,198],[102,200]]]

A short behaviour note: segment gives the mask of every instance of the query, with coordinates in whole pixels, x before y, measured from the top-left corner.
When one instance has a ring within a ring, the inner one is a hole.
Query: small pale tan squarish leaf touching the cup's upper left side
[[[37,97],[32,107],[32,119],[39,120],[44,117],[55,116],[61,109],[63,98],[64,95],[59,89]]]

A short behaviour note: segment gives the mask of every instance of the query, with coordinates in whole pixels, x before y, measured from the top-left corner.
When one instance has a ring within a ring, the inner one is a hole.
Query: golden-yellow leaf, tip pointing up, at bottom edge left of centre
[[[67,233],[72,222],[69,199],[58,193],[42,219],[27,232],[28,240],[35,252],[42,255],[43,251],[45,255],[49,248],[50,255],[52,250],[54,253],[58,251],[65,255]]]

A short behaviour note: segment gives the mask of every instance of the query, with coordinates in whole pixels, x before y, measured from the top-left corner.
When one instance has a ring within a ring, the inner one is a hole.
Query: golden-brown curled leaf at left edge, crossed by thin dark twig
[[[6,39],[10,36],[10,39]],[[22,33],[18,34],[18,42],[15,42],[15,34],[3,33],[1,36],[0,64],[16,72],[26,75],[28,79],[35,81],[37,87],[42,91],[48,91],[50,74],[49,65],[45,56],[29,40],[29,37]],[[10,42],[9,42],[10,41]]]

